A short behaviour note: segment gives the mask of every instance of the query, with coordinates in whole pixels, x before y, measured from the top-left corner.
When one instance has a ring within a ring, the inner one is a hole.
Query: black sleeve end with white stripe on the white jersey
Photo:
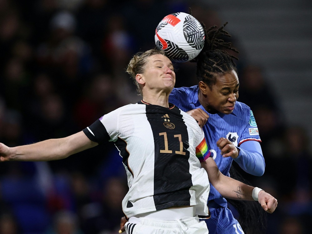
[[[89,131],[89,129],[93,132],[93,134]],[[104,127],[104,125],[101,123],[101,121],[98,119],[97,121],[95,121],[93,124],[91,124],[89,126],[89,129],[85,128],[82,131],[86,134],[86,136],[98,143],[98,144],[102,144],[103,142],[108,141],[110,138],[110,136],[108,135],[106,128]]]

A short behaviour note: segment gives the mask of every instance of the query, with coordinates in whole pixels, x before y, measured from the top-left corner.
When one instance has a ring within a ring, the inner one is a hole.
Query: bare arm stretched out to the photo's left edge
[[[17,147],[7,147],[0,143],[0,161],[58,160],[96,145],[98,144],[91,141],[82,131],[64,138]]]

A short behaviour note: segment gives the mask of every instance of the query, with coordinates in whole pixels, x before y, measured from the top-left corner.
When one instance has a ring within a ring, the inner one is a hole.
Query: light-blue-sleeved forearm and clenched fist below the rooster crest
[[[265,161],[260,143],[257,141],[246,141],[236,147],[229,139],[221,137],[217,141],[223,157],[232,157],[234,161],[247,173],[262,176],[265,170]]]

